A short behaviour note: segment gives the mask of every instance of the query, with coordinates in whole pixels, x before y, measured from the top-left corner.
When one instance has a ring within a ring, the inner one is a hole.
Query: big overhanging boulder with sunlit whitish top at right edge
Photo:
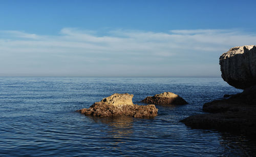
[[[220,56],[222,78],[229,85],[245,89],[256,84],[255,45],[234,47]]]

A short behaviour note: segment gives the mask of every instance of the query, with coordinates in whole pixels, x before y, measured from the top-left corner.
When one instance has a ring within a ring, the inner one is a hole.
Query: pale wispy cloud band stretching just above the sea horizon
[[[255,34],[241,30],[112,30],[105,35],[73,28],[58,35],[0,31],[0,75],[219,75],[222,53],[255,42]]]

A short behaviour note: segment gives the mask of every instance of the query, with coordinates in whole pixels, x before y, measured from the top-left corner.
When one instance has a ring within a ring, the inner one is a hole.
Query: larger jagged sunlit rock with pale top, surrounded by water
[[[135,105],[131,94],[113,94],[110,97],[95,102],[89,108],[79,111],[86,116],[116,117],[132,116],[135,118],[150,118],[157,116],[158,109],[155,105]]]

